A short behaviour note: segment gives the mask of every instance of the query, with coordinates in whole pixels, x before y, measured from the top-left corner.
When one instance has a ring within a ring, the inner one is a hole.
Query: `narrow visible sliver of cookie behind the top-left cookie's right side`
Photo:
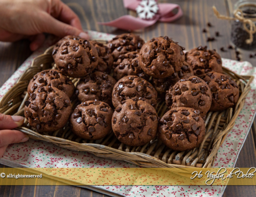
[[[94,45],[99,55],[98,65],[95,68],[95,71],[110,74],[114,61],[111,50],[96,40],[92,40],[90,42]]]

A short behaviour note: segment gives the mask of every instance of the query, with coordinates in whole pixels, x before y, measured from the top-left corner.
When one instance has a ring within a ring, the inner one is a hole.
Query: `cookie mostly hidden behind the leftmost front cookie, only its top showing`
[[[69,98],[72,97],[75,91],[75,86],[72,81],[55,69],[37,73],[33,79],[30,80],[28,85],[28,94],[31,95],[40,87],[44,86],[57,87],[57,89],[68,95]]]

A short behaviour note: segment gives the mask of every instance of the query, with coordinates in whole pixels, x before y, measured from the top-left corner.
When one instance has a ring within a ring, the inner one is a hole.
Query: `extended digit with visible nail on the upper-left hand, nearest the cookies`
[[[79,36],[83,39],[89,39],[89,35],[71,25],[62,23],[54,17],[48,15],[44,20],[44,32],[54,34],[58,37],[65,37],[67,35]]]

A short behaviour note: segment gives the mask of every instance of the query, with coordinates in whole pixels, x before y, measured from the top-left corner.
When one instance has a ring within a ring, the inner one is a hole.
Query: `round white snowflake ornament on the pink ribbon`
[[[138,16],[143,19],[153,18],[158,10],[158,5],[154,0],[142,0],[136,8]]]

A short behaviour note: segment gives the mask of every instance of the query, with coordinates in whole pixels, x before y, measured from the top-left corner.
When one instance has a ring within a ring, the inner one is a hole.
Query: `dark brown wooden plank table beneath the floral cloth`
[[[228,21],[219,20],[212,12],[212,6],[215,5],[220,13],[230,15],[233,12],[233,5],[237,0],[176,0],[159,1],[160,3],[176,3],[181,6],[184,16],[174,23],[157,23],[152,27],[141,31],[136,31],[145,40],[154,36],[167,35],[187,50],[200,45],[207,45],[209,49],[216,49],[223,58],[236,59],[234,50],[221,52],[220,48],[230,45],[230,24]],[[125,14],[135,16],[134,12],[127,11],[123,7],[121,0],[64,0],[80,17],[84,29],[95,30],[112,34],[125,33],[115,28],[100,26],[97,21],[110,21]],[[70,3],[72,2],[72,3]],[[212,24],[211,28],[207,23]],[[207,33],[202,29],[206,28]],[[217,41],[206,42],[207,37],[215,36],[219,31],[220,36]],[[249,61],[253,65],[256,63],[256,57],[249,58],[252,52],[240,51],[241,60]],[[253,52],[254,54],[255,52]],[[0,85],[2,85],[13,72],[24,62],[31,54],[29,51],[29,42],[27,40],[15,43],[0,42]],[[240,152],[236,167],[255,167],[255,129],[249,133],[246,142]],[[3,167],[0,166],[0,167]],[[227,186],[224,196],[255,196],[256,186]],[[1,196],[103,196],[100,193],[78,188],[74,186],[1,186]],[[106,195],[105,195],[106,196]]]

